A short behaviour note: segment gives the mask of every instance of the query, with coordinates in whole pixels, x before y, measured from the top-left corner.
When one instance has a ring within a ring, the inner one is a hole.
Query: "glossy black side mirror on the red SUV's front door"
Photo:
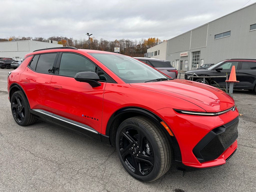
[[[92,87],[98,87],[101,85],[98,82],[100,80],[99,76],[97,75],[97,73],[92,72],[92,71],[77,73],[75,75],[74,79],[79,82],[89,83],[90,86],[92,86]]]

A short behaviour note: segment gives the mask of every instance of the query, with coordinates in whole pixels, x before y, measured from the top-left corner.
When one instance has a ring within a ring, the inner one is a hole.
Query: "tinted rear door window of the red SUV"
[[[49,73],[49,69],[52,70],[55,58],[57,53],[49,53],[40,55],[37,65],[36,71],[41,73]]]

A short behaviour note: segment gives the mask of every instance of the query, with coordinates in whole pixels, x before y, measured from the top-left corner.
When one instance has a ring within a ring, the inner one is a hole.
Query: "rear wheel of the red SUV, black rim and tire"
[[[13,118],[21,126],[31,125],[36,118],[29,112],[27,100],[22,91],[16,91],[11,98],[11,110]]]

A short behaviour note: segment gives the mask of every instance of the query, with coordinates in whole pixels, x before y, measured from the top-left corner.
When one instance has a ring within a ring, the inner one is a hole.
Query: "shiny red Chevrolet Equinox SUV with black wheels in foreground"
[[[8,95],[19,125],[41,119],[116,146],[126,171],[146,182],[174,161],[183,171],[223,165],[237,148],[228,94],[120,54],[34,51],[9,72]]]

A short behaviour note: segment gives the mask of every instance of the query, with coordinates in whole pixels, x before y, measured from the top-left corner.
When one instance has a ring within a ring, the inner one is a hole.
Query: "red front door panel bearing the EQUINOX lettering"
[[[50,84],[52,112],[101,132],[105,84],[93,88],[72,77],[55,75]]]

